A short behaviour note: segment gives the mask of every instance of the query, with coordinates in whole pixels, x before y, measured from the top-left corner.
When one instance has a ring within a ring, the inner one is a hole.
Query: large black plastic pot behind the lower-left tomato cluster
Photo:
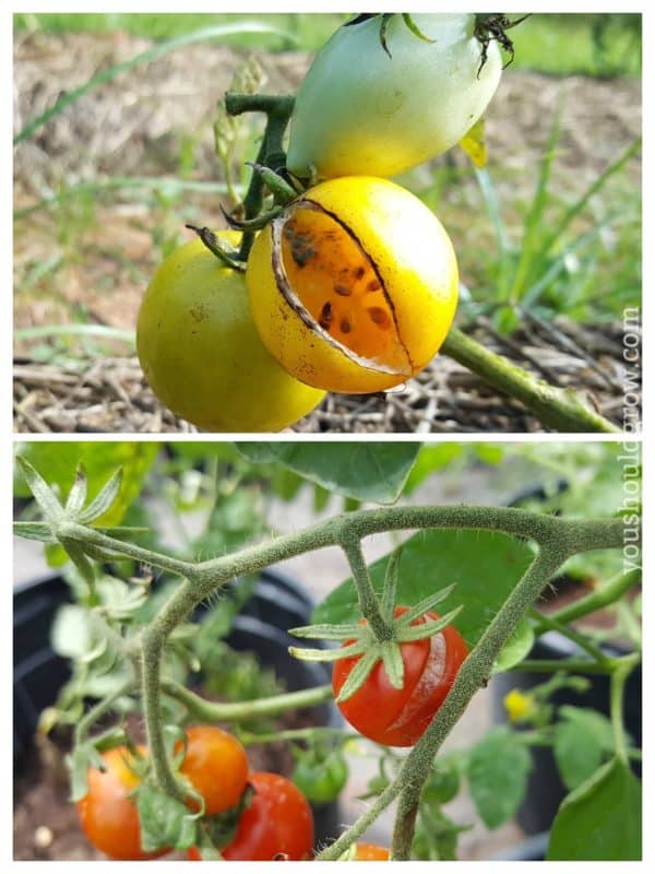
[[[40,712],[53,704],[70,676],[66,659],[50,647],[50,628],[57,610],[71,601],[59,576],[40,578],[14,592],[14,767],[19,773],[29,752]],[[226,642],[238,651],[254,652],[262,664],[274,669],[289,692],[330,682],[323,663],[291,658],[295,641],[287,628],[307,625],[313,604],[291,578],[265,570],[252,597],[235,618]],[[202,611],[201,611],[202,612]],[[319,724],[340,725],[333,702],[314,708]],[[317,841],[333,840],[340,832],[336,803],[313,806]]]

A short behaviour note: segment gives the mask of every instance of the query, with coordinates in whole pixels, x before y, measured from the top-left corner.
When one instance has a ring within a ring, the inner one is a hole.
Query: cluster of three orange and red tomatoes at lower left
[[[176,753],[182,752],[181,743]],[[146,853],[135,794],[144,757],[121,746],[103,755],[103,769],[88,769],[88,791],[78,802],[82,828],[88,840],[111,859],[146,860],[167,852]],[[221,852],[225,859],[271,861],[278,855],[301,860],[311,857],[313,816],[302,792],[276,773],[250,772],[246,751],[231,734],[213,725],[194,725],[186,732],[184,777],[204,801],[204,816],[238,810],[245,792],[251,793],[240,813],[236,835]],[[190,799],[189,806],[196,806]],[[209,820],[207,820],[209,822]],[[200,859],[195,849],[190,859]]]

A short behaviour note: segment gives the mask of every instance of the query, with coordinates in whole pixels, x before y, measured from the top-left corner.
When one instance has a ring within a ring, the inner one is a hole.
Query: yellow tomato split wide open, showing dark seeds
[[[434,356],[457,303],[437,216],[385,179],[321,182],[257,238],[246,273],[264,345],[309,386],[350,393],[404,382]]]

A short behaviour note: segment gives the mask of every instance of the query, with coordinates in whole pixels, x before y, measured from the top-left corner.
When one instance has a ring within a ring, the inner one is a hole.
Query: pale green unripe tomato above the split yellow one
[[[481,47],[474,14],[401,15],[380,44],[380,17],[340,27],[317,55],[296,98],[288,169],[309,178],[390,177],[455,145],[480,118],[500,81],[498,45]]]

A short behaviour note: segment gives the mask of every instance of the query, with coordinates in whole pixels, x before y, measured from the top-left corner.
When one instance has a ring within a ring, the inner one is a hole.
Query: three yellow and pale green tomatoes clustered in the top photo
[[[445,339],[453,247],[388,177],[467,134],[501,60],[492,43],[480,62],[473,14],[413,20],[358,16],[318,54],[296,98],[287,170],[324,181],[261,231],[246,276],[199,239],[155,274],[139,316],[141,365],[163,403],[200,428],[281,430],[325,391],[404,382]]]

